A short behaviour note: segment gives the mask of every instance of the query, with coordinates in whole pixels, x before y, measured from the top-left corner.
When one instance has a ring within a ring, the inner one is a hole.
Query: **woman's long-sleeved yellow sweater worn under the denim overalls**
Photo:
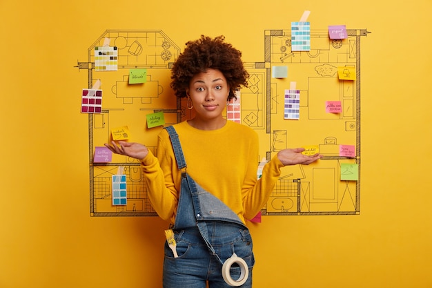
[[[174,125],[186,160],[187,173],[203,189],[222,200],[245,222],[262,209],[284,166],[275,156],[264,166],[257,180],[258,135],[251,128],[227,121],[213,131],[202,131],[187,122]],[[181,171],[164,129],[159,133],[156,157],[153,153],[141,166],[148,184],[148,198],[164,220],[175,222]]]

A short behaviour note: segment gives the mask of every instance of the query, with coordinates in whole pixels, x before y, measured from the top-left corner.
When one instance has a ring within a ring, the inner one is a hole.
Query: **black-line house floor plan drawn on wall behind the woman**
[[[291,29],[264,30],[264,55],[245,63],[248,87],[239,91],[238,122],[259,135],[259,159],[270,160],[284,148],[316,146],[324,155],[317,163],[286,166],[262,215],[360,214],[360,39],[369,32],[347,29],[346,39],[329,39],[328,30],[311,30],[311,50],[291,50]],[[95,48],[117,53],[117,70],[95,68]],[[130,139],[155,153],[161,126],[147,128],[146,116],[163,112],[165,125],[191,117],[186,102],[170,88],[170,68],[181,49],[161,30],[106,30],[88,48],[88,88],[101,81],[101,113],[88,113],[90,215],[154,216],[140,163],[123,155],[94,163],[95,147],[110,140],[110,131],[128,126]],[[273,68],[286,66],[287,77],[275,78]],[[338,68],[355,69],[355,81],[340,80]],[[144,84],[128,84],[130,69],[146,69]],[[284,119],[285,91],[295,82],[300,91],[300,119]],[[328,113],[328,101],[340,102],[340,113]],[[228,110],[228,109],[227,109]],[[227,118],[228,116],[227,113]],[[340,155],[340,145],[355,146],[355,157]],[[344,164],[358,169],[355,180],[341,180]],[[127,204],[112,204],[112,175],[126,175]]]

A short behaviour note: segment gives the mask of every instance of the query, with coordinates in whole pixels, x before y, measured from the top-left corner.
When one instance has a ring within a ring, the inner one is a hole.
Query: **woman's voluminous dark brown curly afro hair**
[[[228,99],[235,97],[235,89],[248,86],[249,74],[243,66],[242,52],[224,40],[222,35],[214,39],[201,35],[195,41],[186,42],[186,48],[171,70],[170,86],[177,97],[186,97],[190,79],[198,73],[206,72],[208,68],[221,71],[226,78],[230,86]]]

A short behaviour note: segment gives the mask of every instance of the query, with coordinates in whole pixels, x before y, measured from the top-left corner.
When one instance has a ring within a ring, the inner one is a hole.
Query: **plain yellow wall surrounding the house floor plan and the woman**
[[[0,287],[161,287],[166,223],[90,217],[88,122],[77,95],[108,29],[160,29],[177,44],[225,35],[245,61],[263,32],[304,10],[315,29],[362,37],[360,215],[250,224],[254,287],[432,287],[432,2],[0,2]],[[183,48],[183,47],[181,47]]]

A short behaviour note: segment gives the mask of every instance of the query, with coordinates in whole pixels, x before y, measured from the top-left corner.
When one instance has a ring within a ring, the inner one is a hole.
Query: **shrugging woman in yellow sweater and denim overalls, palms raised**
[[[303,155],[303,148],[279,151],[257,180],[257,133],[223,117],[235,89],[247,86],[241,57],[223,36],[188,41],[171,87],[187,97],[195,117],[161,131],[156,155],[143,144],[106,144],[141,161],[150,202],[172,224],[177,247],[173,253],[165,244],[166,288],[251,287],[255,259],[246,220],[262,209],[283,166],[321,157]],[[236,260],[227,272],[230,259]]]

